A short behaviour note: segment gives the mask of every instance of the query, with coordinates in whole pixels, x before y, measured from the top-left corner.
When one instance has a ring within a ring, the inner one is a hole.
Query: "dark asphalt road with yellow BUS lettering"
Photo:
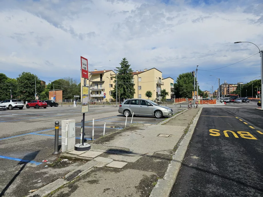
[[[170,197],[263,196],[263,113],[203,108]]]

